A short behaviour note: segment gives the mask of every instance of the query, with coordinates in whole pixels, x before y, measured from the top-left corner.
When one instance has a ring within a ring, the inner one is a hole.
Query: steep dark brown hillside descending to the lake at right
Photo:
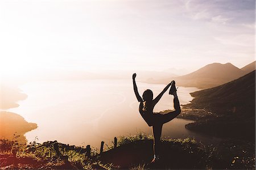
[[[232,82],[191,95],[195,99],[184,105],[184,109],[203,109],[214,116],[201,117],[186,128],[255,142],[255,70]]]

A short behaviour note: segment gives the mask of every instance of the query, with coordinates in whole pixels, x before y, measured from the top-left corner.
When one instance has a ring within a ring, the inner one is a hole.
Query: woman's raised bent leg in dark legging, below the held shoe
[[[175,111],[163,114],[163,116],[162,116],[162,124],[165,124],[166,122],[169,122],[169,121],[173,120],[181,112],[180,102],[179,102],[179,99],[177,97],[176,92],[174,94],[174,109],[175,109]]]

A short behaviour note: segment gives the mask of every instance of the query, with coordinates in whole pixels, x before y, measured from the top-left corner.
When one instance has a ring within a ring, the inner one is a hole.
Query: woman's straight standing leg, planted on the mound
[[[154,146],[153,146],[154,156],[159,156],[160,137],[162,134],[162,127],[163,127],[163,124],[157,124],[152,126],[153,136],[154,136]]]

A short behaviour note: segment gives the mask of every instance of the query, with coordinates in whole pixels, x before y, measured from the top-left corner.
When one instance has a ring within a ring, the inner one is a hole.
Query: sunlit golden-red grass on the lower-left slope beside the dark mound
[[[34,141],[28,145],[19,145],[0,139],[0,154],[0,169],[112,169],[111,164],[88,158],[85,148],[57,141],[42,144]],[[95,156],[96,150],[92,150],[91,154]]]

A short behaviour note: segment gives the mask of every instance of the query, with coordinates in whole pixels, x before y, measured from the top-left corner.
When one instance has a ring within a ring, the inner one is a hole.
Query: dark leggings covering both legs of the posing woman
[[[175,108],[175,111],[172,111],[166,114],[160,114],[160,113],[154,114],[154,124],[152,126],[152,131],[154,136],[153,150],[155,155],[159,155],[160,137],[162,134],[163,124],[173,120],[181,112],[180,103],[177,96],[174,97],[174,108]]]

